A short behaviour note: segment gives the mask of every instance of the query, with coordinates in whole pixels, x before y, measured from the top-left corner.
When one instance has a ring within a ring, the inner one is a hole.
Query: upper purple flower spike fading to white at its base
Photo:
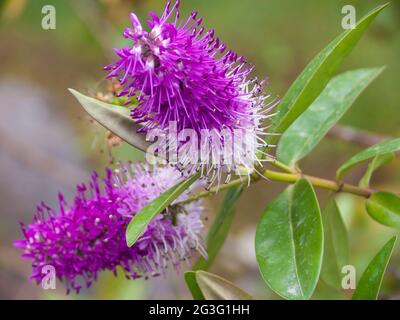
[[[161,17],[151,13],[149,31],[131,14],[132,28],[124,36],[132,45],[116,51],[119,60],[105,67],[108,77],[119,79],[123,87],[119,95],[139,102],[131,115],[143,123],[145,132],[167,130],[172,122],[178,132],[192,129],[199,136],[204,129],[217,135],[223,130],[244,130],[250,136],[246,143],[251,144],[247,148],[251,154],[234,151],[243,154],[229,166],[218,156],[219,161],[206,171],[224,166],[226,172],[239,166],[250,168],[259,161],[257,153],[265,145],[262,125],[272,116],[268,113],[278,99],[266,102],[270,95],[263,92],[265,81],[251,77],[253,67],[245,58],[227,51],[214,30],[205,31],[197,12],[180,21],[178,7],[179,1],[168,1]],[[216,154],[223,153],[224,139],[220,142],[211,145]]]

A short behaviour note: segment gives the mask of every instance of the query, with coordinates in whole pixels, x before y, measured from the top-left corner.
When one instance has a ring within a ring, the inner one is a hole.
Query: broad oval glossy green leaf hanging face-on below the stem
[[[270,203],[258,223],[256,256],[264,281],[286,299],[309,299],[324,247],[321,213],[312,185],[299,180]]]

